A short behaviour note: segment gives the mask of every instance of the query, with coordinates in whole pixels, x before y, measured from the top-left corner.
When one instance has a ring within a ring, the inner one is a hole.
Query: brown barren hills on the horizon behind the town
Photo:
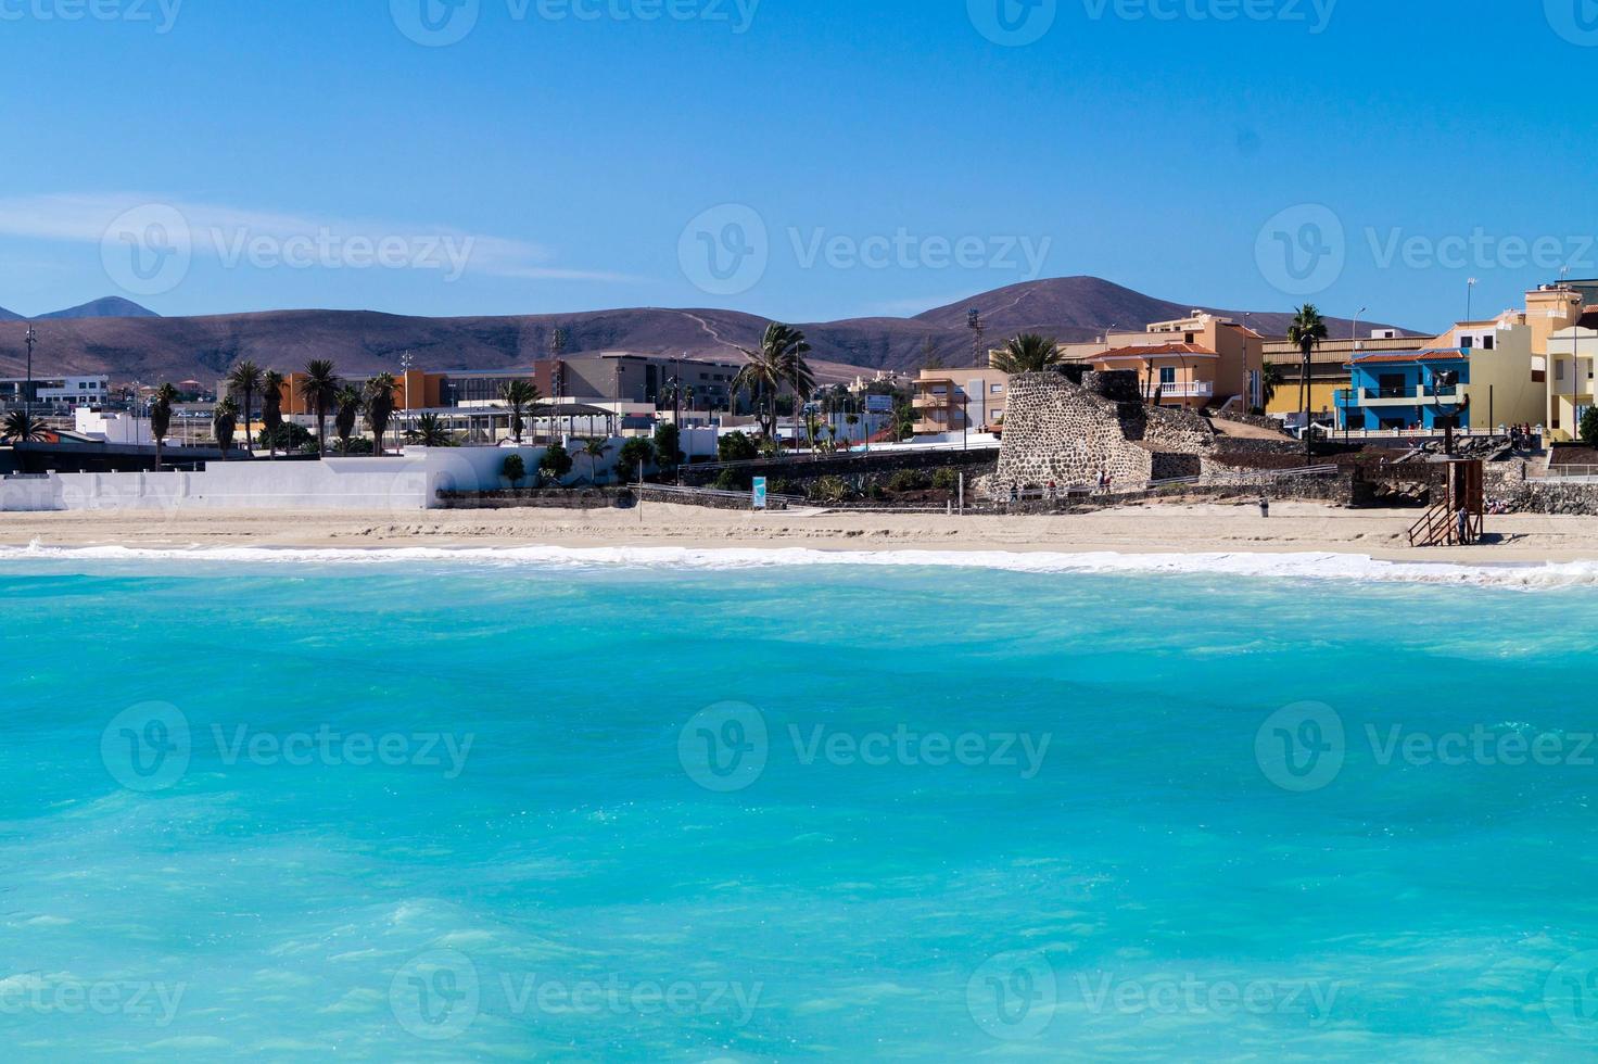
[[[105,300],[101,300],[105,302]],[[965,312],[980,308],[986,339],[997,345],[1037,331],[1061,340],[1093,339],[1109,326],[1139,328],[1179,318],[1189,304],[1152,299],[1098,278],[1031,281],[973,296],[916,318],[852,318],[796,323],[813,350],[821,380],[858,369],[914,369],[928,353],[948,366],[972,363]],[[1221,312],[1242,320],[1238,312]],[[1259,313],[1261,332],[1285,334],[1291,315]],[[366,310],[284,310],[203,318],[54,316],[38,329],[35,371],[107,372],[118,380],[211,380],[249,358],[260,366],[297,369],[331,358],[350,377],[396,371],[404,351],[425,369],[511,369],[547,356],[555,329],[567,353],[634,350],[694,358],[738,358],[759,343],[765,320],[737,310],[594,310],[570,315],[497,318],[411,318]],[[1328,320],[1333,335],[1350,321]],[[22,328],[0,323],[0,375],[11,375],[24,353]],[[1363,323],[1361,323],[1363,328]],[[1369,328],[1382,328],[1371,323]]]

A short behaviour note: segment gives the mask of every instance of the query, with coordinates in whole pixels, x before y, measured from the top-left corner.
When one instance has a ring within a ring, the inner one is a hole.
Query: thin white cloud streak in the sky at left
[[[465,256],[473,273],[518,280],[636,283],[644,278],[556,264],[556,252],[523,240],[471,233],[451,225],[332,219],[203,203],[139,192],[50,193],[0,198],[0,236],[101,244],[129,211],[176,211],[189,227],[197,254],[237,256],[244,241],[406,241],[443,243]]]

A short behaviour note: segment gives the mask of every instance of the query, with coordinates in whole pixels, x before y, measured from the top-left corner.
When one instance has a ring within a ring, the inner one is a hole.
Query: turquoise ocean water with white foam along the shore
[[[0,1056],[1598,1051],[1593,574],[775,558],[0,554]]]

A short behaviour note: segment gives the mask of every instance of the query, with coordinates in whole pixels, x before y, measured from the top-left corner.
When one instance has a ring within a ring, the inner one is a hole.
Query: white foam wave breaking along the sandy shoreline
[[[390,566],[446,564],[494,567],[670,569],[735,570],[797,566],[999,569],[1036,574],[1144,574],[1194,577],[1267,577],[1286,580],[1357,580],[1382,583],[1469,585],[1515,590],[1553,590],[1598,585],[1598,561],[1528,566],[1461,566],[1445,562],[1392,562],[1366,554],[1334,553],[1018,553],[1018,551],[823,551],[812,548],[679,548],[679,546],[494,546],[439,548],[400,546],[265,548],[224,546],[149,550],[133,546],[0,546],[0,562],[229,562],[229,564],[326,564]]]

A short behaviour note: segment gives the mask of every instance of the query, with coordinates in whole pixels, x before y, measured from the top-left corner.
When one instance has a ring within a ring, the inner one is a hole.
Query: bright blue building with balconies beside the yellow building
[[[1338,428],[1430,431],[1438,419],[1456,414],[1459,425],[1470,423],[1470,351],[1464,348],[1365,355],[1349,363],[1349,372],[1350,387],[1338,391]],[[1441,383],[1443,374],[1456,377]]]

